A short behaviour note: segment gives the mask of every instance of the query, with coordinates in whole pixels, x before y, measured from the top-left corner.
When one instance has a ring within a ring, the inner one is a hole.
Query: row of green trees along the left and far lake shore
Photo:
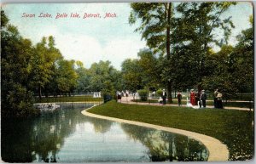
[[[54,37],[43,37],[32,45],[9,25],[3,10],[1,23],[2,116],[38,114],[32,104],[42,96],[101,91],[113,96],[120,89],[120,72],[109,61],[85,69],[82,62],[63,58]]]

